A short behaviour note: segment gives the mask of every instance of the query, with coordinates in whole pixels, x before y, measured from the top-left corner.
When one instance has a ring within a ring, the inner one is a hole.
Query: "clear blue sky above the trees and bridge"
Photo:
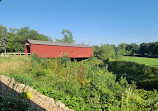
[[[158,41],[158,0],[2,0],[0,24],[89,45]]]

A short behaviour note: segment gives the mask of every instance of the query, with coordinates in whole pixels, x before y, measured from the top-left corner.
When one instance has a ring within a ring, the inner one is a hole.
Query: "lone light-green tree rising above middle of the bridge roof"
[[[56,39],[57,42],[64,42],[64,43],[74,43],[72,33],[69,30],[62,30],[61,34],[63,38],[61,40]]]

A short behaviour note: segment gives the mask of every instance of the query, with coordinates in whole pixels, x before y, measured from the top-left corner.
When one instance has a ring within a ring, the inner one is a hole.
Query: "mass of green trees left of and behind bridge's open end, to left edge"
[[[7,38],[6,38],[7,35]],[[0,26],[0,41],[1,41],[1,49],[2,49],[2,40],[6,41],[5,47],[7,52],[23,52],[24,51],[24,42],[26,39],[32,40],[46,40],[52,41],[49,36],[45,36],[43,34],[39,34],[36,30],[31,30],[29,27],[23,27],[20,29],[7,28],[4,26]],[[4,42],[3,42],[4,49]]]

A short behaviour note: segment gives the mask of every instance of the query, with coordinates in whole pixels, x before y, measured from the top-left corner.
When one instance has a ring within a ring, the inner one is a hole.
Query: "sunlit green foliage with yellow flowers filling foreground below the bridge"
[[[158,108],[156,90],[136,89],[135,84],[129,84],[124,77],[117,80],[106,66],[99,67],[101,61],[96,58],[72,62],[68,58],[40,59],[33,55],[29,62],[24,72],[8,74],[76,111],[150,111]]]

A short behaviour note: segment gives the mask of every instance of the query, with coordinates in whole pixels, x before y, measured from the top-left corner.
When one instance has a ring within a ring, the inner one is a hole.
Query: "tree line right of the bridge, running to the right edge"
[[[121,43],[116,47],[115,45],[102,44],[101,46],[93,46],[93,55],[101,60],[115,59],[120,60],[122,56],[158,56],[158,42],[135,43],[126,44]]]

